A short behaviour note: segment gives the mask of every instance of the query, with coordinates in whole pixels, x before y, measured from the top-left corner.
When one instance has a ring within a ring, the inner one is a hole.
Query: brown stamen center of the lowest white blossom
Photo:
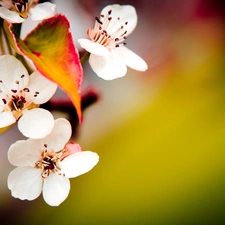
[[[41,160],[35,163],[35,167],[42,170],[41,176],[43,179],[47,178],[50,173],[58,173],[58,175],[63,175],[60,173],[60,168],[57,166],[57,162],[62,161],[67,156],[67,151],[62,149],[59,152],[54,150],[47,150],[47,144],[44,144],[44,150],[41,154]]]

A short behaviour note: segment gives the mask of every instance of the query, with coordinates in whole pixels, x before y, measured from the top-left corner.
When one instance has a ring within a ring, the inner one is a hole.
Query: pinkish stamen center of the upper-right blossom
[[[93,42],[96,42],[108,49],[117,48],[126,45],[124,40],[127,38],[127,29],[125,23],[120,22],[120,17],[113,18],[112,10],[106,15],[101,14],[100,18],[95,17],[94,29],[88,29],[87,34]]]

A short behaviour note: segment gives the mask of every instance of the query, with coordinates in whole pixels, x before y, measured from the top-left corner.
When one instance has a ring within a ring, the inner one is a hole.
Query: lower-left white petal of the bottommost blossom
[[[8,176],[8,188],[15,198],[34,200],[41,194],[41,170],[32,167],[17,167]]]

